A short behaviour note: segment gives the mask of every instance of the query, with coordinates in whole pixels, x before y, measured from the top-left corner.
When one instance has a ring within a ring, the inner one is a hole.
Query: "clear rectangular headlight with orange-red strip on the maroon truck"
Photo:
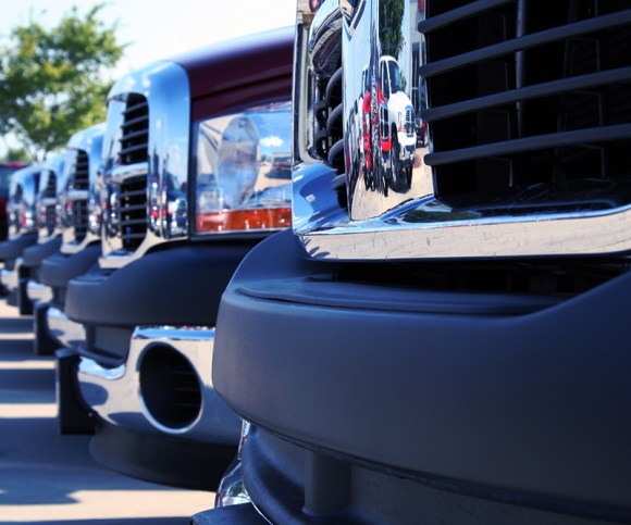
[[[290,225],[290,120],[282,103],[198,123],[196,233]]]

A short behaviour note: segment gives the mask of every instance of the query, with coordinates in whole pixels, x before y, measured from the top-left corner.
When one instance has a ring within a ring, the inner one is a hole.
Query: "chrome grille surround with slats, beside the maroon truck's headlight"
[[[110,91],[95,203],[103,217],[101,267],[121,267],[157,243],[188,234],[187,224],[170,228],[166,214],[169,189],[187,183],[189,115],[188,77],[172,62],[138,70]]]

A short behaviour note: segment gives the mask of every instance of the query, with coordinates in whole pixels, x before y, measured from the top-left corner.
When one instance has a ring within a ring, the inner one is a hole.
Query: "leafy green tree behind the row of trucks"
[[[99,18],[102,8],[82,16],[74,7],[52,28],[33,20],[0,47],[0,134],[15,134],[33,160],[106,117],[106,72],[125,46]]]

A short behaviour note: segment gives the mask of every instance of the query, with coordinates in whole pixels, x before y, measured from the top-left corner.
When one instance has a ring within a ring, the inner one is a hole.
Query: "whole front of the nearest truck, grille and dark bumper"
[[[247,423],[197,523],[631,520],[630,36],[626,2],[298,2],[293,232],[222,298]],[[386,195],[330,153],[391,57],[422,122]]]

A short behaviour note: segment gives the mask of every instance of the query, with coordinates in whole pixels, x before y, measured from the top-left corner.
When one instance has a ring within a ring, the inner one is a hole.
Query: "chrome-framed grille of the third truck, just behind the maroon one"
[[[73,135],[69,141],[62,253],[76,253],[99,240],[99,229],[90,228],[89,212],[101,165],[104,129],[104,124],[97,124]]]

